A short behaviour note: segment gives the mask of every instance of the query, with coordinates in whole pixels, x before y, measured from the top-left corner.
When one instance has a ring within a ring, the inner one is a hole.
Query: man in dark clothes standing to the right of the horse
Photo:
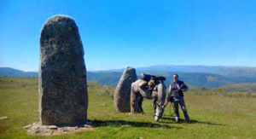
[[[183,81],[178,80],[178,75],[174,74],[172,76],[173,82],[170,84],[169,87],[169,94],[168,94],[168,101],[173,102],[174,104],[174,111],[176,114],[175,120],[179,121],[179,113],[178,113],[178,104],[181,106],[183,110],[184,117],[187,123],[190,122],[189,114],[186,109],[185,101],[183,99],[183,91],[187,91],[189,88]]]

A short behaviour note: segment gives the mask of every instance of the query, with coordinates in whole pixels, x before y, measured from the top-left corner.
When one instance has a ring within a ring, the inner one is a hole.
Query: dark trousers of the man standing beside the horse
[[[179,104],[180,107],[183,110],[183,114],[184,114],[184,117],[185,117],[186,121],[190,122],[189,114],[188,114],[188,111],[186,109],[186,105],[185,105],[185,101],[184,101],[183,96],[179,96],[179,97],[174,96],[173,97],[173,104],[174,104],[174,111],[175,111],[176,117],[179,119],[179,113],[178,113],[178,104]]]

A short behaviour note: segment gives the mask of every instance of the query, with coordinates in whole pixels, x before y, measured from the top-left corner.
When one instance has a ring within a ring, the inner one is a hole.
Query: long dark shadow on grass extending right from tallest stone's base
[[[146,122],[134,122],[134,121],[125,121],[125,120],[91,120],[95,127],[99,126],[108,126],[108,125],[116,125],[116,126],[124,126],[131,125],[133,127],[148,127],[148,128],[176,128],[182,129],[182,127],[176,127],[171,125],[163,125],[163,124],[154,124],[154,123],[146,123]]]

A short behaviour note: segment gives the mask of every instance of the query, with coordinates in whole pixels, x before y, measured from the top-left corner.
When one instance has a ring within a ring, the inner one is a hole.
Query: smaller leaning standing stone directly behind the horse
[[[131,83],[137,80],[135,68],[126,67],[119,84],[114,90],[114,106],[118,112],[125,113],[131,111]]]

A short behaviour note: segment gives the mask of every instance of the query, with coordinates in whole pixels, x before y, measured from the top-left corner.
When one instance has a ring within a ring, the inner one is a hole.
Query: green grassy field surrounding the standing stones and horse
[[[37,78],[0,78],[0,138],[255,138],[256,98],[224,93],[186,92],[191,124],[177,124],[166,108],[164,119],[154,122],[152,101],[143,101],[146,115],[117,113],[113,88],[89,85],[88,119],[95,127],[61,136],[29,136],[23,126],[38,121]],[[182,112],[180,112],[182,115]],[[183,119],[183,117],[182,117]]]

